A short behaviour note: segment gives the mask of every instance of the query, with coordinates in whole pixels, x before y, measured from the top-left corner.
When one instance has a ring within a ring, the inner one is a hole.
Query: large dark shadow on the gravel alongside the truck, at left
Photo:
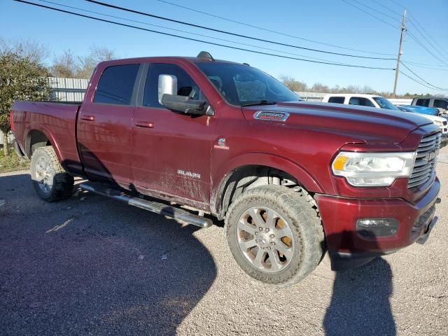
[[[193,225],[89,193],[47,203],[28,174],[0,177],[0,199],[1,334],[174,335],[216,278]]]

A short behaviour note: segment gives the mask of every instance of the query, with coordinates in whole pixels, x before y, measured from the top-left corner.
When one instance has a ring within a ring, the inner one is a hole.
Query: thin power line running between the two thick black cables
[[[283,50],[265,48],[265,47],[260,47],[258,45],[253,45],[253,44],[248,44],[248,43],[241,43],[241,42],[232,41],[232,40],[227,40],[225,38],[218,38],[218,37],[204,35],[204,34],[197,34],[197,33],[193,33],[193,32],[190,32],[190,31],[181,30],[181,29],[174,29],[174,28],[169,28],[169,27],[160,26],[160,25],[153,25],[153,24],[148,23],[148,22],[142,22],[142,21],[138,21],[138,20],[126,19],[126,18],[122,18],[120,16],[99,13],[99,12],[95,12],[94,10],[86,10],[86,9],[83,9],[83,8],[73,7],[73,6],[69,6],[69,5],[63,5],[62,3],[52,2],[52,1],[48,1],[48,0],[38,0],[38,1],[45,2],[45,3],[51,3],[53,5],[61,6],[61,7],[64,7],[64,8],[72,8],[72,9],[76,9],[76,10],[81,10],[81,11],[86,12],[86,13],[94,13],[94,14],[97,14],[97,15],[103,15],[103,16],[106,16],[106,17],[109,17],[109,18],[115,18],[115,19],[119,19],[119,20],[125,20],[125,21],[128,21],[128,22],[140,23],[141,25],[148,25],[148,26],[151,26],[151,27],[158,27],[158,28],[162,28],[162,29],[169,29],[169,30],[172,30],[172,31],[180,31],[182,33],[192,34],[192,35],[195,35],[195,36],[202,36],[202,37],[212,38],[212,39],[218,40],[218,41],[225,41],[225,42],[235,43],[235,44],[239,44],[239,45],[246,45],[248,47],[259,48],[259,49],[263,49],[263,50],[270,50],[270,51],[275,51],[275,52],[281,52],[281,53],[284,53],[284,54],[305,57],[305,58],[308,58],[308,59],[317,59],[317,60],[323,61],[323,62],[331,62],[331,63],[335,63],[335,64],[344,64],[344,63],[340,63],[340,62],[332,62],[329,59],[323,59],[323,58],[317,58],[317,57],[310,57],[310,56],[306,56],[306,55],[300,55],[300,54],[296,54],[295,52],[287,52],[287,51],[283,51]]]

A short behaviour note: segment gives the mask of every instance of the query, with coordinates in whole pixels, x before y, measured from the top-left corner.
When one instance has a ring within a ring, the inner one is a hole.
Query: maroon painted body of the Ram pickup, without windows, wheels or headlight
[[[415,152],[423,137],[437,132],[433,123],[411,113],[338,104],[235,106],[198,68],[201,62],[210,61],[151,57],[103,62],[80,105],[15,102],[13,132],[19,151],[30,158],[34,144],[48,141],[70,174],[113,180],[123,188],[209,211],[218,218],[227,210],[226,181],[237,169],[264,166],[286,172],[313,195],[332,257],[388,253],[424,234],[428,223],[413,227],[437,200],[440,183],[435,173],[418,188],[408,188],[407,178],[388,187],[360,188],[335,176],[331,163],[342,150]],[[135,82],[134,104],[94,102],[102,73],[120,64],[139,64],[142,76],[153,64],[176,64],[200,87],[214,116],[193,118],[142,106],[143,80]],[[258,111],[289,117],[255,119]],[[225,139],[225,146],[220,139]],[[400,226],[396,235],[373,240],[357,232],[360,218],[395,218]]]

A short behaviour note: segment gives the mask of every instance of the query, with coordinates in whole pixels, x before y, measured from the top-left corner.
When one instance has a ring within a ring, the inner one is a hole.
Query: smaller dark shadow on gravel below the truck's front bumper
[[[376,258],[359,268],[335,273],[331,302],[323,319],[325,335],[396,335],[389,302],[393,285],[388,262]]]

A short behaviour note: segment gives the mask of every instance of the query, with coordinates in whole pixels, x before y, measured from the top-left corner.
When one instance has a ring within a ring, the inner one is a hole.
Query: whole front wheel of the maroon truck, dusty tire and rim
[[[302,280],[323,255],[323,228],[311,197],[282,186],[243,193],[226,216],[230,251],[253,278],[289,285]]]

